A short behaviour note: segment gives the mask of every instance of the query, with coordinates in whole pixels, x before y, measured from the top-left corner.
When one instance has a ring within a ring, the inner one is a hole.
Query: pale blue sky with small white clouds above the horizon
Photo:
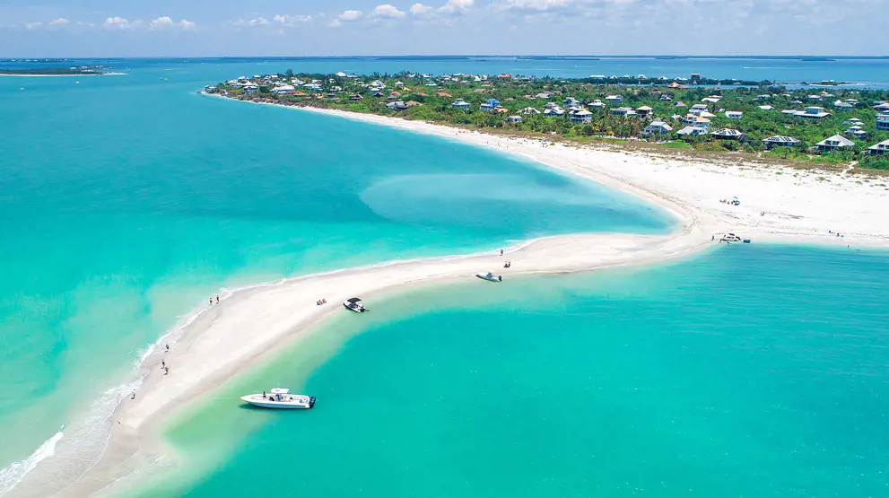
[[[0,0],[0,57],[887,55],[886,19],[889,0]]]

